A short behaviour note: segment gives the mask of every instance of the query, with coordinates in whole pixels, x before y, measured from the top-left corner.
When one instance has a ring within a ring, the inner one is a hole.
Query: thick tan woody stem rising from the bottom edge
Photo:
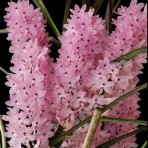
[[[91,122],[90,122],[90,125],[89,125],[89,129],[87,131],[87,134],[86,134],[82,148],[90,148],[91,147],[91,143],[93,141],[96,129],[98,127],[98,122],[101,118],[101,114],[102,114],[101,110],[99,110],[97,108],[94,110],[93,116],[91,118]]]

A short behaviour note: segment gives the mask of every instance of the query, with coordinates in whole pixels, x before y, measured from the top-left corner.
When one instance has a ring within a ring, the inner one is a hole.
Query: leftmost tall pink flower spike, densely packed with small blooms
[[[39,9],[34,9],[29,1],[9,3],[5,19],[8,25],[8,39],[13,53],[6,85],[10,89],[7,116],[9,121],[6,136],[11,138],[9,145],[21,148],[47,148],[48,138],[53,136],[50,102],[52,67],[48,53],[49,39],[45,33],[45,20]]]

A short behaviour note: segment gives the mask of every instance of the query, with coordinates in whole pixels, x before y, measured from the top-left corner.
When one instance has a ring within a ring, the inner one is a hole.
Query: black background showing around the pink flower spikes
[[[16,1],[16,0],[13,0]],[[66,4],[66,0],[43,0],[46,4],[46,7],[49,10],[50,15],[52,16],[55,24],[57,25],[60,32],[62,32],[62,24],[63,24],[63,14],[64,14],[64,8]],[[0,29],[4,29],[6,27],[6,24],[4,22],[3,16],[6,14],[5,8],[8,6],[7,2],[9,0],[0,0]],[[30,0],[31,3],[33,3],[32,0]],[[93,2],[93,0],[92,0]],[[144,2],[146,3],[146,0],[138,0],[138,2]],[[130,3],[130,0],[122,0],[121,4],[123,6],[128,6]],[[71,8],[74,7],[74,4],[78,4],[81,6],[81,0],[73,0]],[[121,5],[120,4],[120,5]],[[103,5],[101,6],[101,9],[99,11],[99,15],[103,17],[104,10],[107,5],[107,0],[104,0]],[[116,15],[114,16],[116,17]],[[54,36],[52,30],[50,27],[47,27],[47,30],[50,32],[51,36]],[[9,71],[9,67],[11,66],[10,59],[11,54],[9,53],[9,46],[10,42],[6,40],[7,34],[0,34],[0,66],[4,67],[7,71]],[[57,48],[52,47],[52,52],[50,54],[51,57],[57,57]],[[147,81],[147,64],[144,65],[143,74],[139,75],[140,78],[140,84],[143,84]],[[5,114],[7,111],[7,107],[5,105],[5,101],[9,99],[9,88],[5,86],[6,82],[6,75],[0,71],[0,114]],[[148,107],[148,101],[147,101],[147,90],[142,90],[140,94],[141,101],[139,101],[140,105],[140,111],[141,116],[140,120],[147,120],[147,107]],[[142,145],[146,138],[147,138],[147,132],[141,132],[137,135],[138,137],[138,144]]]

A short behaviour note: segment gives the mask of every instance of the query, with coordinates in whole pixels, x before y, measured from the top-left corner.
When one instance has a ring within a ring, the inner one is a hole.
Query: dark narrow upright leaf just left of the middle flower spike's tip
[[[71,2],[72,2],[72,0],[66,0],[63,25],[67,23],[67,18],[69,18]],[[65,31],[64,27],[63,27],[63,31]]]

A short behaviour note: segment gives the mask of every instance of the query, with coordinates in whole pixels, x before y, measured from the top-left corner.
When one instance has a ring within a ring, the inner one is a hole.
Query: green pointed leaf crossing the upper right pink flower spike
[[[142,47],[142,48],[133,50],[125,55],[122,55],[121,57],[114,59],[112,62],[120,62],[122,60],[128,61],[128,60],[132,59],[133,57],[139,55],[140,53],[143,53],[146,51],[147,51],[147,47]]]

